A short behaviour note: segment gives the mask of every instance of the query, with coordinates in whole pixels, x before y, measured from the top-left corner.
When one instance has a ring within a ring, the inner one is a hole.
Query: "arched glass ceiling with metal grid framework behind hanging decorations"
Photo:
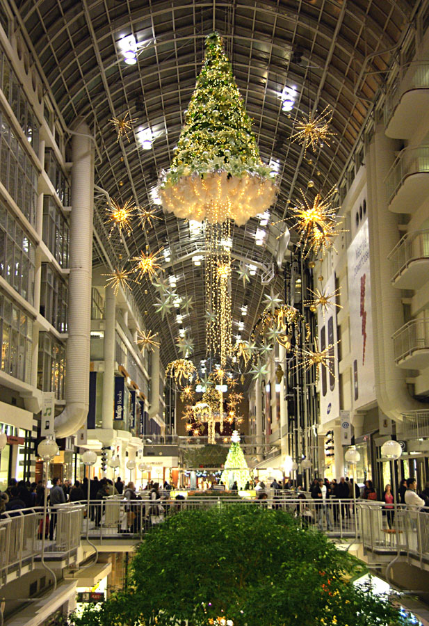
[[[168,168],[177,143],[184,111],[200,72],[204,37],[213,29],[224,39],[234,74],[254,119],[261,157],[279,162],[281,187],[273,216],[281,218],[299,188],[314,179],[316,188],[327,191],[337,184],[359,137],[366,115],[387,78],[391,50],[403,41],[421,2],[407,0],[15,0],[17,18],[28,33],[46,88],[57,103],[58,118],[72,125],[86,118],[95,132],[101,162],[97,159],[95,182],[113,198],[133,196],[140,206],[153,204],[152,190],[158,173]],[[126,65],[118,47],[125,35],[141,45],[136,65]],[[378,56],[366,58],[373,52]],[[295,86],[296,102],[290,114],[282,112],[284,86]],[[317,106],[330,105],[330,147],[316,154],[303,151],[289,140],[293,122]],[[156,135],[151,150],[143,150],[133,134],[131,142],[117,143],[108,122],[129,112],[137,118],[135,129],[150,127]],[[309,162],[311,161],[311,162]],[[103,199],[104,200],[104,199]],[[103,202],[99,211],[102,214]],[[195,341],[195,362],[205,358],[204,275],[195,266],[193,254],[201,248],[199,234],[171,214],[162,216],[147,236],[136,223],[127,237],[111,241],[111,256],[123,259],[149,243],[151,250],[170,248],[165,270],[177,278],[179,296],[193,296],[195,306],[180,326]],[[99,220],[100,222],[100,220]],[[269,274],[273,252],[256,246],[259,221],[234,228],[233,252],[238,259],[258,265],[250,284],[238,275],[232,280],[234,334],[246,339],[261,313],[261,300],[270,286],[282,289],[282,279],[261,284],[259,268]],[[268,227],[265,227],[266,229]],[[275,236],[271,236],[275,242]],[[102,258],[95,252],[94,262]],[[236,265],[236,263],[235,263]],[[141,311],[147,311],[147,326],[158,331],[161,358],[177,358],[175,337],[179,332],[176,313],[154,313],[156,292],[150,284],[133,289]],[[248,306],[247,316],[241,307]]]

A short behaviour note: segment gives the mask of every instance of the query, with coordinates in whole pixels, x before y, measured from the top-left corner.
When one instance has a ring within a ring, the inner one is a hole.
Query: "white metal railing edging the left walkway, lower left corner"
[[[83,504],[48,508],[45,522],[46,554],[70,557],[81,543]],[[0,584],[11,572],[33,565],[42,553],[43,508],[24,508],[2,513],[0,519]]]

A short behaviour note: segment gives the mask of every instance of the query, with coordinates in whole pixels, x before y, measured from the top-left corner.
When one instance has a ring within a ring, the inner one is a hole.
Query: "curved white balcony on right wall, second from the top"
[[[412,145],[401,150],[385,183],[393,213],[414,213],[419,209],[429,197],[429,145]]]

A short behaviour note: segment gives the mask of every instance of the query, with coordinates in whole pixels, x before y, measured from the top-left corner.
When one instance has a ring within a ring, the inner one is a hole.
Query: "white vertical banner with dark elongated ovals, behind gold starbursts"
[[[332,272],[326,281],[325,292],[333,294],[335,291],[335,273]],[[329,370],[321,367],[319,378],[321,424],[330,422],[339,417],[339,381],[338,381],[338,346],[337,346],[337,307],[334,305],[318,307],[317,313],[318,345],[323,351],[332,346],[329,351]]]

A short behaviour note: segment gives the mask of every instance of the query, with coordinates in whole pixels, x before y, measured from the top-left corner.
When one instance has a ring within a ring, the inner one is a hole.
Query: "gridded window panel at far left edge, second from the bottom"
[[[34,303],[35,246],[0,199],[0,275]]]

